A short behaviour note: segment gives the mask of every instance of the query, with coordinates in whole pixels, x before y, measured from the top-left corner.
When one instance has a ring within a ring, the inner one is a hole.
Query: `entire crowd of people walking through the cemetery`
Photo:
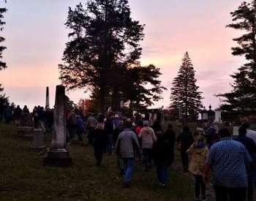
[[[8,105],[4,110],[7,124],[15,121],[19,126],[22,113],[30,113],[26,105]],[[31,111],[35,128],[53,131],[53,110],[35,106]],[[129,187],[135,167],[135,157],[143,163],[145,171],[156,167],[158,185],[167,185],[167,170],[174,160],[174,149],[180,151],[184,172],[195,178],[195,200],[206,200],[206,184],[210,178],[214,184],[217,201],[252,201],[256,184],[256,132],[249,124],[241,124],[238,136],[232,136],[226,128],[208,125],[204,132],[192,133],[184,126],[176,137],[169,124],[164,131],[159,121],[150,124],[146,119],[135,123],[115,113],[89,114],[81,110],[66,110],[67,140],[88,138],[94,148],[96,166],[102,164],[104,153],[116,153],[116,162],[123,175],[123,186]]]

